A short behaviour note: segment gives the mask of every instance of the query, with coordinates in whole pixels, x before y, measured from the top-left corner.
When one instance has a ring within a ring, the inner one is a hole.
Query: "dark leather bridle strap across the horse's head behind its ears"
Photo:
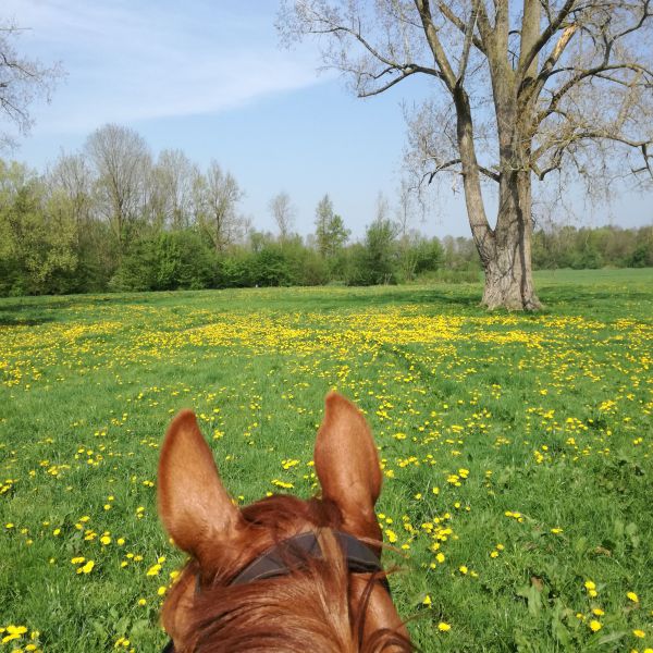
[[[377,554],[354,535],[341,531],[332,532],[343,552],[347,569],[353,574],[379,574],[377,580],[390,594],[390,584]],[[248,584],[279,576],[288,576],[297,569],[305,568],[308,560],[322,558],[318,534],[315,532],[299,533],[263,552],[241,569],[226,584],[229,587]],[[199,592],[200,582],[198,577],[195,593],[199,594]],[[174,653],[172,640],[165,644],[163,653]]]

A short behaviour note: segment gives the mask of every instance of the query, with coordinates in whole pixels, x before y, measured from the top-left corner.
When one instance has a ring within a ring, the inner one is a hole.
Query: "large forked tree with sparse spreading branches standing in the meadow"
[[[569,170],[590,186],[652,173],[651,0],[297,0],[288,38],[315,35],[360,97],[414,75],[438,93],[410,121],[412,163],[460,175],[489,308],[537,309],[532,183]],[[617,156],[619,155],[619,156]],[[596,175],[600,175],[599,177]],[[482,180],[497,195],[491,226]]]

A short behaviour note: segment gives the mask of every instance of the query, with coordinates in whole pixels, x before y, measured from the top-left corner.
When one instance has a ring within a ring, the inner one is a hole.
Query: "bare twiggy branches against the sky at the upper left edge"
[[[45,66],[39,61],[22,57],[13,42],[23,28],[9,21],[0,21],[0,115],[13,124],[19,133],[29,132],[33,119],[29,106],[39,97],[50,101],[56,83],[63,75],[61,64]],[[8,132],[0,132],[0,150],[15,146]]]

